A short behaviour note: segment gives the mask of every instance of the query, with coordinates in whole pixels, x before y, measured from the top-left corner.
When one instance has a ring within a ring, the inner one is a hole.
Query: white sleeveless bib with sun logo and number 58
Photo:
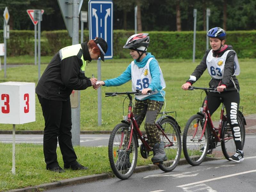
[[[131,63],[131,74],[132,74],[132,91],[135,92],[136,90],[142,90],[142,89],[146,89],[148,88],[149,84],[151,83],[151,74],[149,71],[149,63],[150,61],[154,59],[154,58],[149,58],[146,65],[143,68],[139,68],[138,65],[136,65],[134,63],[134,61],[132,61]],[[159,67],[159,72],[160,72],[160,84],[163,87],[163,89],[165,88],[165,81],[164,81],[164,77],[163,77],[163,73],[162,70]],[[152,90],[154,91],[153,93],[150,94],[150,96],[152,94],[156,94],[158,93],[157,90]],[[138,100],[142,100],[146,97],[148,97],[149,95],[136,95],[135,98]]]

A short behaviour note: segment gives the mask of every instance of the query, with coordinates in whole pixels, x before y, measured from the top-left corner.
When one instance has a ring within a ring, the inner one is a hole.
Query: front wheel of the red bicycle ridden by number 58
[[[122,180],[131,177],[137,164],[138,140],[133,133],[131,145],[128,148],[130,135],[129,125],[120,123],[113,129],[108,141],[108,159],[111,169],[116,177]]]

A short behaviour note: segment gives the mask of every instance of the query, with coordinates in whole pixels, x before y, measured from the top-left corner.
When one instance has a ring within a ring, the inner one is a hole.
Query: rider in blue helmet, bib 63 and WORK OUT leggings
[[[227,120],[230,124],[234,141],[236,144],[236,153],[229,160],[240,162],[244,160],[242,148],[240,127],[237,123],[237,114],[240,102],[239,83],[236,78],[240,73],[239,63],[236,52],[231,45],[225,45],[226,32],[219,27],[212,28],[208,31],[207,36],[210,39],[212,49],[208,49],[201,63],[196,67],[188,81],[182,85],[183,90],[188,90],[189,86],[195,83],[204,73],[206,68],[212,77],[209,82],[211,88],[217,88],[220,92],[209,92],[208,108],[212,115],[220,103],[223,101]],[[221,101],[221,99],[222,101]],[[214,146],[209,146],[208,153],[212,152]]]

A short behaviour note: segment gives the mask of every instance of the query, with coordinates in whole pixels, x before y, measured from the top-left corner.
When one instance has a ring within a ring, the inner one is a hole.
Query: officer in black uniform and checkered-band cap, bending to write
[[[95,86],[97,79],[84,75],[84,69],[92,59],[104,61],[108,45],[100,37],[88,43],[71,45],[58,51],[46,67],[37,86],[36,93],[41,104],[44,127],[44,159],[46,169],[64,172],[57,161],[57,142],[59,141],[64,168],[85,170],[79,164],[71,142],[71,104],[72,90],[84,90]]]

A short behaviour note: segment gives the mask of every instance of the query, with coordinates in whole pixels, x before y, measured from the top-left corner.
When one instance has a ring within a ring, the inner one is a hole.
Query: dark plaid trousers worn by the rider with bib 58
[[[155,143],[159,143],[160,135],[155,125],[156,117],[163,107],[163,101],[156,100],[136,100],[133,109],[133,116],[140,127],[141,123],[145,120],[145,130],[147,132],[148,144],[153,146]]]

